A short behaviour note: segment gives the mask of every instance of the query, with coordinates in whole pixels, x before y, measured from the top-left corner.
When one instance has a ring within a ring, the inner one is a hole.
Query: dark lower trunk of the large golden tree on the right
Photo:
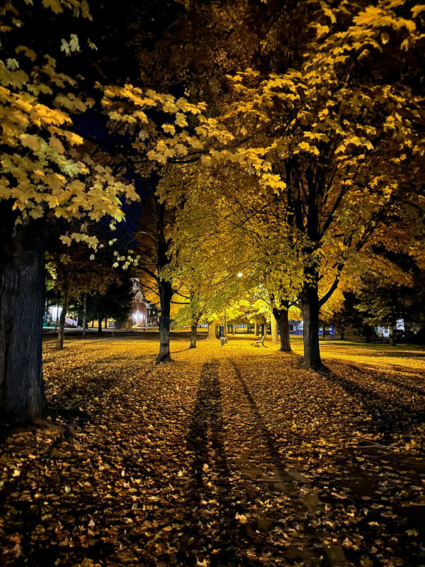
[[[319,348],[319,293],[317,281],[306,282],[302,292],[302,317],[304,319],[304,359],[302,366],[307,369],[323,368]]]

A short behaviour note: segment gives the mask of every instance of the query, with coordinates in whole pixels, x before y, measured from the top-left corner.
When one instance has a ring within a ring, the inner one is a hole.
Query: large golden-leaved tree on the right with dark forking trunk
[[[211,151],[204,160],[237,162],[263,188],[275,189],[292,228],[289,242],[299,244],[303,364],[313,369],[322,367],[319,308],[348,262],[371,250],[373,240],[408,249],[409,231],[419,227],[424,143],[414,69],[421,11],[387,1],[365,9],[322,3],[316,38],[299,68],[263,81],[251,69],[233,77],[239,101],[222,122],[236,149]],[[319,296],[324,272],[334,275]]]

